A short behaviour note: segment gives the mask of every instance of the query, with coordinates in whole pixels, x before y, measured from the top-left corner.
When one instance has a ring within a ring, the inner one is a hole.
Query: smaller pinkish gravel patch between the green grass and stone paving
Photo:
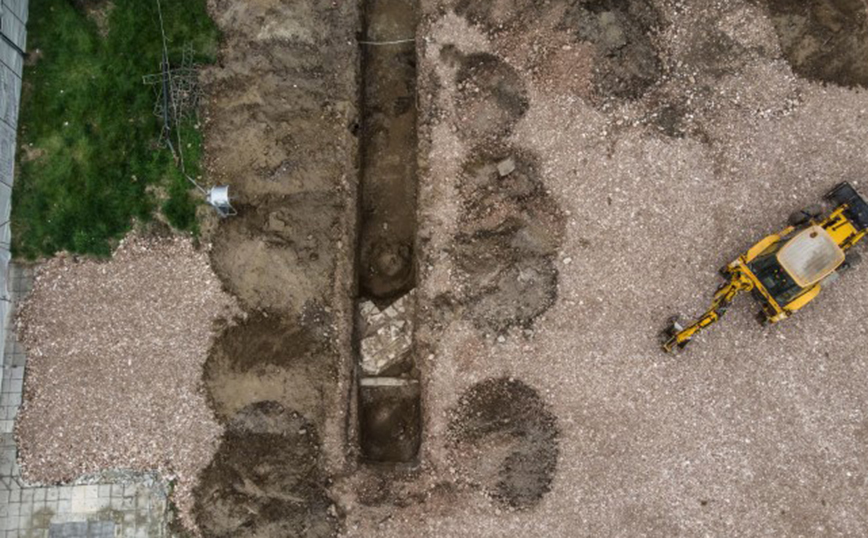
[[[186,239],[131,236],[108,262],[44,263],[18,317],[28,355],[16,430],[24,478],[157,470],[177,478],[189,524],[193,480],[223,431],[202,364],[215,321],[236,310]]]

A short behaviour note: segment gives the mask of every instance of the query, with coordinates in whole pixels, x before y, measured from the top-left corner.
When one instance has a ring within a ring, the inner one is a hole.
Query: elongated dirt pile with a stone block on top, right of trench
[[[526,150],[477,148],[462,172],[458,292],[478,326],[497,332],[527,328],[557,296],[553,258],[563,215]]]

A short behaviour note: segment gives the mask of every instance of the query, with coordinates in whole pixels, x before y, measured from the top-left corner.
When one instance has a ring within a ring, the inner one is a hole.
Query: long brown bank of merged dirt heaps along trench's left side
[[[203,72],[209,180],[238,215],[205,227],[246,310],[204,382],[227,424],[200,476],[206,536],[330,536],[327,475],[346,458],[354,295],[358,6],[213,0],[219,64]]]

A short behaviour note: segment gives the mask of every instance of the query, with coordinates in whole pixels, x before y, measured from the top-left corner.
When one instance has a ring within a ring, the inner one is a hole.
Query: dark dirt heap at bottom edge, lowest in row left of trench
[[[195,492],[200,530],[226,538],[333,536],[319,450],[316,427],[278,403],[236,413]]]

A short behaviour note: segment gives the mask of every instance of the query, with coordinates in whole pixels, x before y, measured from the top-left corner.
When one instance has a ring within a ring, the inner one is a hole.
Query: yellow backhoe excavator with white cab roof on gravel
[[[827,216],[819,205],[797,211],[789,226],[724,266],[720,274],[727,282],[717,289],[711,308],[687,324],[670,319],[663,349],[684,348],[720,320],[742,292],[750,292],[761,305],[757,320],[762,325],[784,320],[813,301],[842,270],[855,266],[861,257],[851,249],[868,233],[868,203],[847,182],[829,191],[826,200],[834,207]]]

